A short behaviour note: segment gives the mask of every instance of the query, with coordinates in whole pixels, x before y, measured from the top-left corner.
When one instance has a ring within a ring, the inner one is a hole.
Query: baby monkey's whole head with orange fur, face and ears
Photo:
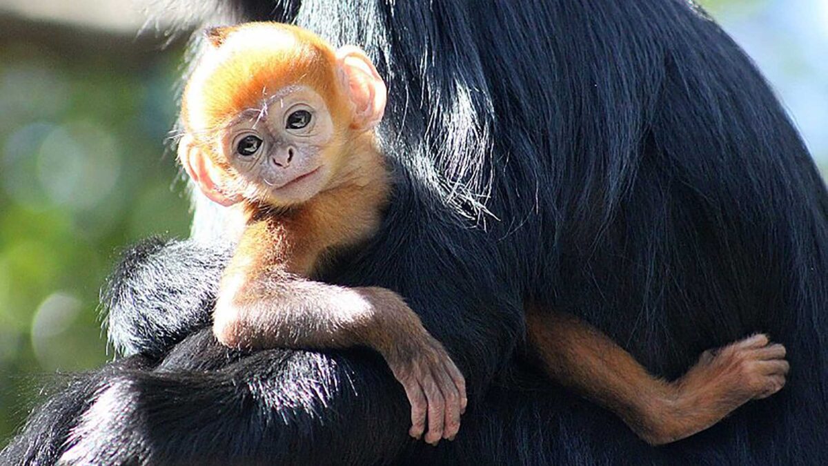
[[[298,27],[209,29],[181,103],[179,159],[225,206],[293,206],[348,176],[373,138],[386,88],[354,46],[334,50]]]

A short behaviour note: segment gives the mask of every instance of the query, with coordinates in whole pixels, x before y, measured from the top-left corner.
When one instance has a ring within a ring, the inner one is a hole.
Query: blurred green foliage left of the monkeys
[[[44,374],[107,359],[96,308],[118,248],[189,230],[164,155],[181,51],[101,50],[0,47],[0,447]]]

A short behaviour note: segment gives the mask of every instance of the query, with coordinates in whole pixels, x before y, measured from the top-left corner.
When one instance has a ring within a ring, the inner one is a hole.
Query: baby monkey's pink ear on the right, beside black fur
[[[336,51],[339,75],[354,104],[351,127],[367,131],[373,129],[385,113],[387,90],[377,68],[359,47],[344,46]]]

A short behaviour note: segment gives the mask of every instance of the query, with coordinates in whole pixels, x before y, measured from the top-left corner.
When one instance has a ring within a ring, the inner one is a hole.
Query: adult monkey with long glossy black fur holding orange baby
[[[217,347],[197,329],[223,256],[156,243],[132,251],[112,294],[110,335],[142,355],[80,377],[2,459],[828,460],[828,194],[744,53],[681,0],[483,3],[234,10],[361,44],[387,77],[380,131],[401,182],[375,242],[326,280],[396,289],[450,349],[471,396],[454,442],[407,439],[405,396],[368,352]],[[652,449],[517,363],[527,299],[664,376],[757,330],[785,344],[792,372],[777,396]]]

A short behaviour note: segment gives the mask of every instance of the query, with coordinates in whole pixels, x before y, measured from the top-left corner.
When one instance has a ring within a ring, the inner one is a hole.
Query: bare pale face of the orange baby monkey
[[[244,110],[219,133],[224,158],[238,172],[243,197],[276,205],[307,201],[327,185],[334,123],[325,100],[309,87],[291,85]]]

